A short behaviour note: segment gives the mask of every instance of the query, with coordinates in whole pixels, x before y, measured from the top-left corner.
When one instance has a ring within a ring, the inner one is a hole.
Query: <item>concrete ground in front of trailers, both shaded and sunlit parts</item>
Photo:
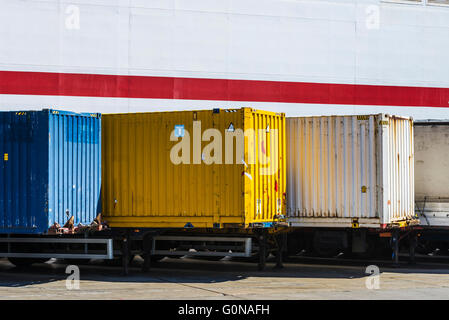
[[[131,274],[93,261],[80,266],[79,289],[66,287],[66,264],[58,260],[17,269],[0,259],[0,299],[448,299],[449,265],[402,268],[380,265],[379,289],[364,263],[292,259],[281,270],[268,263],[165,258],[149,273],[133,262]],[[73,282],[69,281],[69,284]]]

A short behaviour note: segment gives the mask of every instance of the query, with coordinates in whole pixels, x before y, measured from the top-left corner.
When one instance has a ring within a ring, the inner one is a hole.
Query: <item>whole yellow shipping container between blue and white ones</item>
[[[269,227],[285,214],[285,115],[242,109],[105,114],[111,227]]]

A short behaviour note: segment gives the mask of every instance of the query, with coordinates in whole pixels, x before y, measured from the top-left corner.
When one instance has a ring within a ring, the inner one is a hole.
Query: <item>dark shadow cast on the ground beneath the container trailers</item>
[[[408,265],[389,267],[390,263],[316,260],[291,257],[283,269],[274,269],[274,259],[269,259],[264,271],[257,271],[255,263],[236,261],[204,261],[193,258],[165,258],[155,263],[147,273],[141,271],[143,260],[136,257],[127,276],[120,266],[105,265],[101,260],[79,265],[81,280],[117,283],[220,283],[253,278],[321,278],[354,279],[366,277],[366,267],[377,265],[381,272],[449,274],[448,265]],[[6,259],[0,259],[0,287],[24,287],[65,280],[68,276],[63,260],[50,260],[27,268],[17,268]]]

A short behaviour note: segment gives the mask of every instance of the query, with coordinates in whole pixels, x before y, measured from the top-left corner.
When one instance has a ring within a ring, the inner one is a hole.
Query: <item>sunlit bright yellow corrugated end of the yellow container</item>
[[[245,135],[246,224],[268,227],[285,215],[285,117],[246,109]]]

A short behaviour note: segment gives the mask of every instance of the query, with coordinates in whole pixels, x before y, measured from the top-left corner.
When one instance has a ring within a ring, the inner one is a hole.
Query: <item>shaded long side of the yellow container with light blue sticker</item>
[[[103,213],[110,225],[242,224],[242,164],[235,138],[231,163],[222,143],[242,119],[225,110],[104,116]]]

